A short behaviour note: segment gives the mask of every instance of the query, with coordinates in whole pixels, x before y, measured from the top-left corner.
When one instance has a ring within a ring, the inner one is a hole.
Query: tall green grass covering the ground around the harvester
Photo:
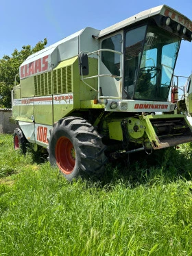
[[[0,146],[0,255],[192,255],[191,144],[73,183]]]

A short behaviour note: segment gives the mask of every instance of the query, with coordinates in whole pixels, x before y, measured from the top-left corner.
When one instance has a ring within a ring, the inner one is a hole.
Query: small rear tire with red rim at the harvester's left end
[[[26,153],[27,139],[20,128],[14,130],[13,142],[14,150],[21,150],[23,154]]]

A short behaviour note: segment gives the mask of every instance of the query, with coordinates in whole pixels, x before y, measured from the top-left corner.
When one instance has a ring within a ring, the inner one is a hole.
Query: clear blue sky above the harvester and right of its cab
[[[11,56],[23,45],[35,46],[47,38],[47,46],[84,27],[102,30],[158,5],[169,5],[192,20],[191,0],[0,0],[0,58]],[[182,40],[175,74],[192,73],[192,42]],[[184,78],[183,81],[186,79]]]

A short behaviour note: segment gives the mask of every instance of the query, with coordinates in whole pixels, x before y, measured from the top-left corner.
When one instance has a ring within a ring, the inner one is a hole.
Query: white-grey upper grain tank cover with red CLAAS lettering
[[[98,45],[92,35],[98,36],[99,32],[92,27],[86,27],[32,54],[19,67],[20,79],[50,71],[62,60],[73,58],[81,51],[96,51]]]

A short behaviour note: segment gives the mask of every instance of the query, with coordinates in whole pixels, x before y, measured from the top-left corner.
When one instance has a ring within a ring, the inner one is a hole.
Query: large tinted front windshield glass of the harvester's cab
[[[179,47],[180,38],[152,25],[126,32],[123,97],[167,101]]]

